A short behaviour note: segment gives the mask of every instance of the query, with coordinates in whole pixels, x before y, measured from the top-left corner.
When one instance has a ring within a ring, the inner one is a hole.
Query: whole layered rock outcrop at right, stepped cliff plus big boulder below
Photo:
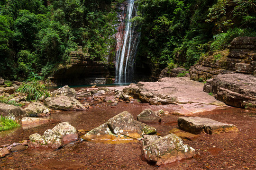
[[[233,39],[229,49],[203,56],[189,71],[192,80],[206,80],[204,92],[217,100],[256,108],[256,37]]]

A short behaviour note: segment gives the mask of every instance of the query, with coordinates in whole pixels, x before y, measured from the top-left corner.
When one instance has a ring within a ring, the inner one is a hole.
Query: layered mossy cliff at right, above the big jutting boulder
[[[256,37],[237,37],[227,50],[210,52],[190,68],[190,78],[205,81],[218,74],[256,74]]]

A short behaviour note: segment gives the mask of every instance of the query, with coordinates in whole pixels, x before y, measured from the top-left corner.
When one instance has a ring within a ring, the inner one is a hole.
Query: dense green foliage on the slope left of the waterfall
[[[104,60],[114,42],[116,1],[1,0],[0,76],[46,76],[77,46]]]

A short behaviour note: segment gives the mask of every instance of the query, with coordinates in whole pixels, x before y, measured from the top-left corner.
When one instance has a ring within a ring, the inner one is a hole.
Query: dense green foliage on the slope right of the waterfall
[[[256,35],[255,0],[138,0],[138,57],[157,67],[190,67],[237,36]]]

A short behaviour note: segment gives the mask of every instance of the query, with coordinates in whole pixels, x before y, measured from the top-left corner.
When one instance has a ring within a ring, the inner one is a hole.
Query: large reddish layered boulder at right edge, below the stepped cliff
[[[256,76],[240,73],[218,75],[207,80],[203,90],[231,106],[256,108]]]

